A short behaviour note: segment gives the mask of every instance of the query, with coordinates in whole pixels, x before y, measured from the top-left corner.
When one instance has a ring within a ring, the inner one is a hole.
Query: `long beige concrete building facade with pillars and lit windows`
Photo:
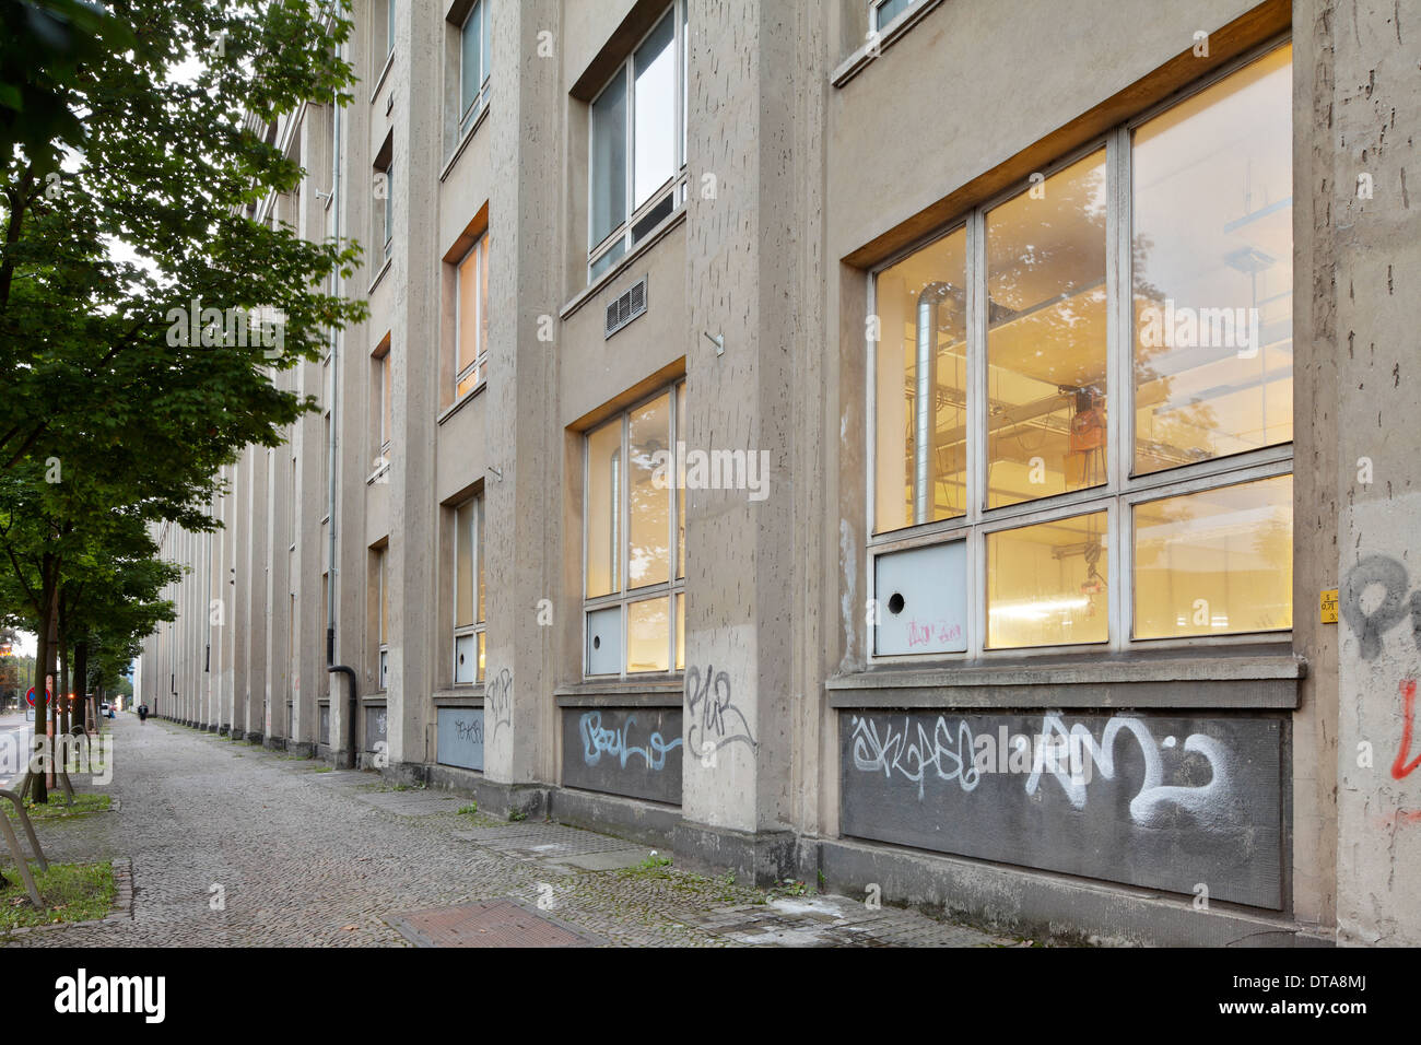
[[[142,698],[756,881],[1421,943],[1404,9],[357,0],[256,216],[369,318],[163,533]]]

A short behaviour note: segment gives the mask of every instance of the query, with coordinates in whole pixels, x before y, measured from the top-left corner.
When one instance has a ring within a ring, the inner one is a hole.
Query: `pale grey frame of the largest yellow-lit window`
[[[1292,641],[1293,628],[1266,631],[1238,631],[1231,634],[1177,636],[1161,638],[1137,638],[1134,636],[1134,509],[1151,500],[1162,500],[1185,493],[1223,489],[1228,486],[1292,476],[1295,473],[1295,442],[1275,444],[1236,454],[1225,454],[1175,468],[1134,475],[1134,402],[1135,402],[1135,341],[1134,341],[1134,259],[1133,259],[1133,169],[1131,144],[1137,128],[1187,102],[1211,87],[1228,80],[1245,67],[1265,58],[1280,47],[1293,43],[1285,33],[1259,47],[1250,48],[1238,58],[1221,65],[1187,88],[1151,105],[1123,124],[1114,125],[1088,142],[1060,155],[1039,173],[1050,179],[1073,164],[1106,151],[1106,374],[1107,374],[1107,462],[1106,483],[1077,491],[1066,491],[1033,500],[989,508],[986,505],[985,479],[989,468],[989,431],[986,414],[988,395],[988,323],[985,303],[980,300],[988,280],[986,266],[986,215],[1016,199],[1033,185],[1032,178],[1013,182],[993,196],[983,199],[966,213],[939,226],[929,235],[915,240],[908,247],[874,264],[865,273],[867,314],[878,316],[878,276],[904,259],[924,250],[946,236],[966,230],[966,297],[968,297],[968,432],[973,439],[966,454],[966,510],[952,519],[941,519],[921,525],[907,525],[885,533],[875,533],[877,522],[877,468],[878,468],[878,347],[880,341],[865,337],[865,591],[868,606],[877,607],[877,560],[882,554],[905,552],[924,546],[935,546],[952,540],[966,542],[966,650],[962,653],[915,653],[878,654],[877,626],[868,624],[865,633],[865,663],[904,664],[924,667],[932,663],[971,664],[993,660],[1020,660],[1030,657],[1060,657],[1063,654],[1100,655],[1141,653],[1147,650],[1280,644]],[[1296,55],[1295,55],[1296,75]],[[1296,168],[1295,168],[1296,178]],[[882,338],[882,331],[880,331]],[[1295,400],[1296,417],[1296,400]],[[1034,523],[1056,522],[1074,516],[1107,512],[1107,570],[1108,570],[1108,638],[1104,643],[1069,643],[1034,647],[989,647],[988,643],[988,549],[986,539],[992,533],[1017,529]],[[880,610],[881,611],[881,610]],[[1295,624],[1297,606],[1293,606]]]

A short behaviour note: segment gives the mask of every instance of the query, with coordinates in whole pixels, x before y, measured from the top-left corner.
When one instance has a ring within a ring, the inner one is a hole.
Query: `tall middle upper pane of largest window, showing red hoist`
[[[1106,482],[1106,151],[986,216],[988,508]]]

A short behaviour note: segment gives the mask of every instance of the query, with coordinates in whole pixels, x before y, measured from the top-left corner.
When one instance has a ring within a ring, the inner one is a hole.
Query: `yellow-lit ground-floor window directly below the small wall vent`
[[[585,671],[685,664],[685,505],[675,462],[685,382],[587,435]]]

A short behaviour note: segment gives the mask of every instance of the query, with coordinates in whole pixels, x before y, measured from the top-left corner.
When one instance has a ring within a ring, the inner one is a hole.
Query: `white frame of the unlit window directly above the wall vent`
[[[639,208],[637,203],[637,75],[635,75],[635,60],[637,51],[641,45],[647,43],[655,34],[661,24],[666,18],[672,18],[672,38],[669,50],[672,51],[672,58],[675,61],[675,77],[676,77],[676,104],[672,105],[674,109],[674,127],[672,127],[672,144],[676,149],[676,162],[674,164],[674,171],[671,178],[657,186],[647,198],[647,202]],[[666,4],[665,10],[657,17],[651,28],[648,28],[637,43],[632,44],[627,51],[627,57],[621,60],[617,65],[617,71],[612,73],[607,82],[601,85],[597,94],[587,102],[587,282],[588,284],[595,283],[598,279],[610,273],[617,267],[620,262],[631,256],[631,253],[639,246],[651,239],[654,239],[658,229],[665,227],[682,208],[686,205],[686,121],[689,115],[688,97],[689,97],[689,37],[686,34],[689,10],[686,0],[672,0]],[[593,242],[593,218],[595,208],[595,186],[597,186],[597,149],[595,149],[595,127],[593,121],[593,108],[597,105],[598,100],[607,92],[607,90],[622,78],[627,88],[627,115],[622,125],[622,142],[625,148],[625,183],[622,186],[622,220],[607,233],[605,237]],[[647,219],[657,208],[662,206],[666,199],[671,199],[671,210],[666,212],[665,218],[659,222],[647,227],[641,235],[632,239],[632,233],[637,226]],[[612,254],[617,247],[621,246],[621,253],[612,257],[607,267],[597,272],[597,266],[601,264],[610,254]]]

